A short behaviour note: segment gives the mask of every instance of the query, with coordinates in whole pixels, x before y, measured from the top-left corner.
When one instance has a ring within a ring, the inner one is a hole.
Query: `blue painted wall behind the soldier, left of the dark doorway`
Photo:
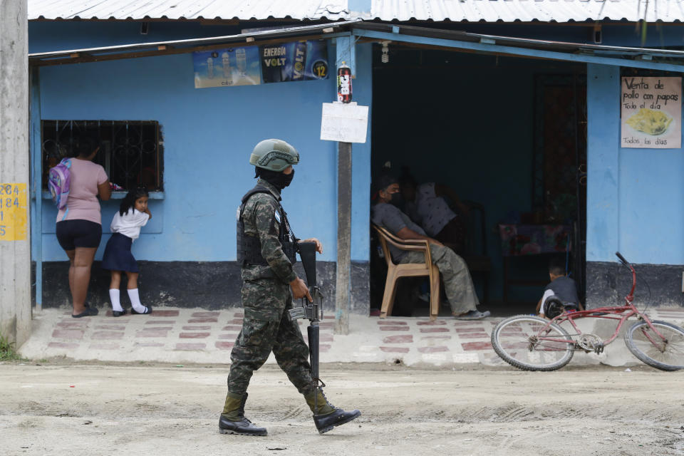
[[[31,23],[30,52],[159,39],[214,36],[217,28],[138,24]],[[152,33],[157,31],[157,34]],[[161,33],[165,31],[165,33]],[[202,35],[202,33],[204,33]],[[232,31],[229,33],[236,33]],[[328,46],[331,68],[335,48]],[[358,46],[354,99],[371,104],[370,45]],[[232,88],[194,87],[192,55],[81,63],[41,68],[41,117],[57,120],[157,120],[164,138],[165,199],[135,242],[135,257],[156,261],[232,261],[235,211],[254,185],[248,163],[265,138],[291,142],[301,162],[284,207],[299,237],[316,236],[322,260],[336,259],[336,142],[319,140],[321,103],[336,96],[335,79]],[[353,260],[368,260],[370,140],[353,146]],[[118,201],[102,206],[103,228]],[[43,205],[43,261],[65,260],[54,237],[56,212]],[[97,259],[108,237],[103,237]],[[33,252],[34,257],[37,252]]]

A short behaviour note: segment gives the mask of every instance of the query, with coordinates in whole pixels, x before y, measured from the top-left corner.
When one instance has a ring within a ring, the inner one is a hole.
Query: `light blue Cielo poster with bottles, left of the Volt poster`
[[[195,88],[255,86],[261,83],[256,46],[193,52]]]

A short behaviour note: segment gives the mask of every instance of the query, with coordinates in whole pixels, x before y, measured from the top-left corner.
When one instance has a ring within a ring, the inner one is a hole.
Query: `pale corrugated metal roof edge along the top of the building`
[[[357,1],[357,3],[359,3]],[[363,2],[361,2],[363,3]],[[28,19],[295,19],[469,22],[684,20],[684,0],[28,0]],[[646,10],[648,8],[648,10]]]

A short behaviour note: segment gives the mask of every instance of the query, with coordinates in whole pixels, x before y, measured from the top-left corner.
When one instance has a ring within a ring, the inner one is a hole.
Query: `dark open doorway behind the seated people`
[[[584,298],[584,64],[408,46],[390,47],[383,63],[378,45],[371,122],[373,177],[390,165],[397,177],[450,187],[472,207],[455,212],[467,221],[464,258],[489,259],[489,271],[472,271],[481,310],[534,312],[549,280],[549,259],[559,255]],[[500,224],[563,225],[566,244],[553,254],[507,259]],[[371,309],[379,309],[385,260],[372,247]],[[426,316],[423,280],[405,281],[393,314]],[[447,304],[442,314],[450,314]]]

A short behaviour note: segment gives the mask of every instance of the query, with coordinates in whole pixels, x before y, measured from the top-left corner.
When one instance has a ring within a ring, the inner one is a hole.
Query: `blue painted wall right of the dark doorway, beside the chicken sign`
[[[588,71],[587,261],[684,264],[684,150],[621,148],[619,68]]]

